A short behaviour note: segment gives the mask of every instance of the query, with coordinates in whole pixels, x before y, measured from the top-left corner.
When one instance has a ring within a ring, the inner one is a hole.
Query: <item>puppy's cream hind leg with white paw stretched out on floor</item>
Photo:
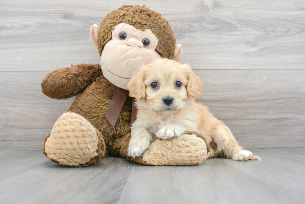
[[[224,124],[219,124],[215,127],[212,137],[217,144],[219,155],[224,154],[235,161],[260,160],[259,156],[254,156],[252,152],[242,149],[231,130]]]

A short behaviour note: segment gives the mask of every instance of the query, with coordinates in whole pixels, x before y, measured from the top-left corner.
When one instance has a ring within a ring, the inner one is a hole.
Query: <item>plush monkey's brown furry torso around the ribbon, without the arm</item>
[[[128,97],[119,119],[113,128],[105,114],[115,93],[116,86],[111,84],[102,74],[86,88],[72,103],[69,111],[85,117],[101,132],[104,137],[108,155],[115,154],[112,146],[116,140],[130,132],[132,98]]]

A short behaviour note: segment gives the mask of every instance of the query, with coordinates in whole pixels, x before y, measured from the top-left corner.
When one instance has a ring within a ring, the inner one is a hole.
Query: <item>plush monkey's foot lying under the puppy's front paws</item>
[[[130,134],[125,135],[114,148],[127,157]],[[161,140],[155,137],[143,154],[138,158],[128,157],[130,161],[144,165],[194,165],[208,158],[205,140],[196,134],[184,134],[179,137]]]

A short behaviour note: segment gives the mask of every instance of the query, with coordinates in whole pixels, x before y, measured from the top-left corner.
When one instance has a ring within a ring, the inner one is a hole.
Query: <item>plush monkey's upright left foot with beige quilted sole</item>
[[[66,166],[87,166],[105,157],[100,131],[84,117],[65,112],[45,138],[43,153],[53,162]]]

